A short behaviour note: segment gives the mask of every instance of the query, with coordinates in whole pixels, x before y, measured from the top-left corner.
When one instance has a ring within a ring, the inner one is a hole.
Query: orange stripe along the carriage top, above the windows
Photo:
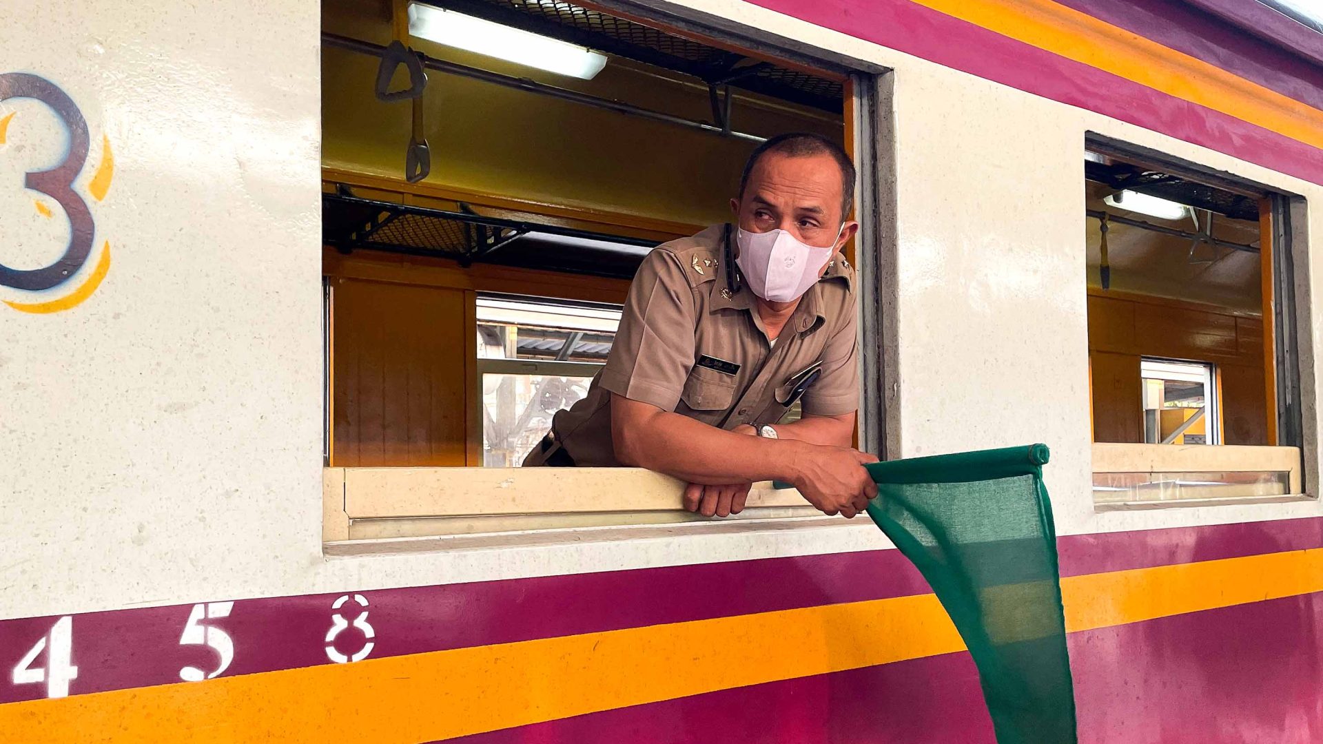
[[[1323,147],[1323,111],[1050,0],[914,0],[1191,103]]]

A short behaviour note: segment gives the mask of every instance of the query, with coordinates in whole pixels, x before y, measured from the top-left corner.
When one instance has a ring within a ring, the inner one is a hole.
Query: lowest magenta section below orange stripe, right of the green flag
[[[1070,635],[1088,744],[1323,741],[1323,593]]]

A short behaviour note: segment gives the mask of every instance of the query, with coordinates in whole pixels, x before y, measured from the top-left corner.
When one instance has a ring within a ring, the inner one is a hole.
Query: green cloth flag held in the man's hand
[[[998,744],[1076,744],[1046,445],[878,462],[868,514],[979,669]]]

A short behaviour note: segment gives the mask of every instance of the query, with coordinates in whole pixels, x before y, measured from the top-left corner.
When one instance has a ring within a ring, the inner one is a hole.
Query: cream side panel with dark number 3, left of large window
[[[0,73],[50,81],[86,118],[77,191],[103,136],[115,165],[105,199],[86,196],[112,257],[101,286],[62,312],[0,306],[0,616],[308,582],[319,4],[64,0],[4,16]],[[56,230],[15,222],[40,197],[21,179],[60,160],[65,130],[32,101],[0,109],[15,113],[0,262],[33,265],[66,228],[54,205]]]

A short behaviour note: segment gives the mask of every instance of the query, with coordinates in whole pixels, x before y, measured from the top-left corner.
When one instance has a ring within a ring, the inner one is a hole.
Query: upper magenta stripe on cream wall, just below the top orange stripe
[[[1319,148],[909,0],[755,1],[951,69],[1323,184]]]

